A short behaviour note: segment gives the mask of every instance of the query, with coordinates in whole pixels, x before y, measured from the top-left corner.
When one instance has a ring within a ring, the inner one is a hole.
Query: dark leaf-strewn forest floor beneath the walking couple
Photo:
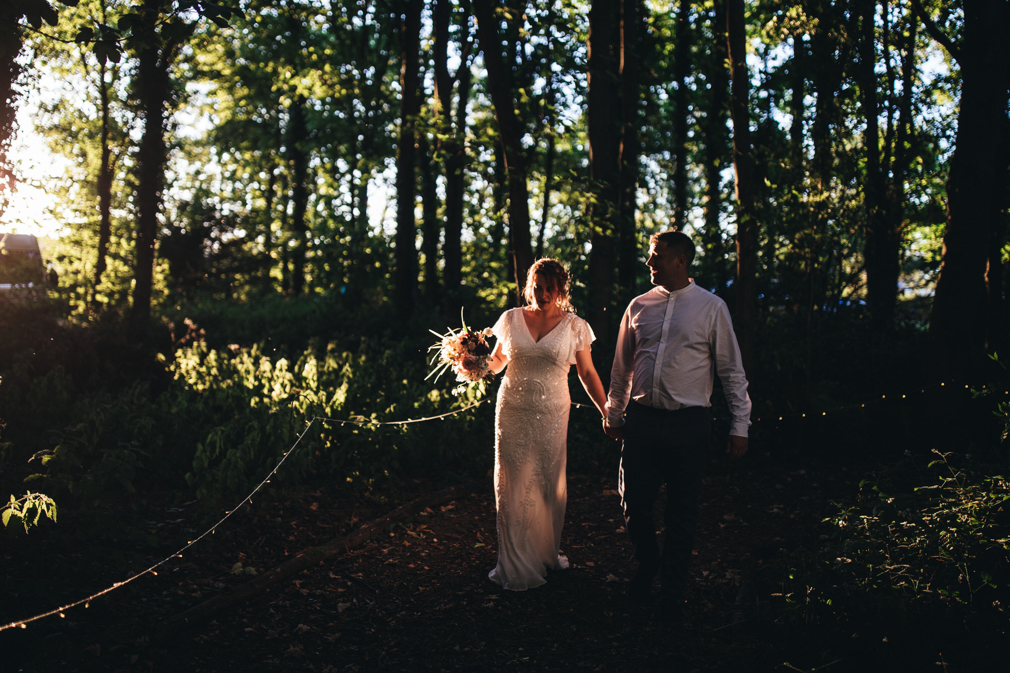
[[[212,544],[197,545],[157,577],[96,599],[88,609],[69,610],[65,619],[8,631],[0,648],[6,666],[17,671],[877,670],[861,661],[877,656],[868,650],[839,654],[777,635],[776,613],[767,596],[762,602],[763,592],[774,595],[769,593],[774,586],[766,582],[740,590],[777,563],[780,543],[824,534],[822,518],[836,510],[833,502],[854,496],[857,482],[840,468],[785,468],[771,459],[713,463],[680,627],[663,623],[652,607],[624,597],[634,562],[616,475],[570,475],[563,551],[572,566],[551,572],[535,589],[503,591],[487,578],[496,554],[489,484],[396,524],[210,622],[152,642],[159,619],[247,581],[247,575],[232,572],[235,564],[262,572],[398,504],[355,502],[336,489],[331,494],[302,489],[287,497],[258,497],[243,515],[229,519],[230,531],[222,526]],[[433,486],[413,483],[413,493],[398,500]],[[662,496],[658,512],[661,506]],[[194,531],[188,526],[195,522],[185,517],[178,508],[166,511],[162,525],[152,521],[148,533],[171,552],[168,544]],[[60,548],[53,535],[58,530],[59,524],[47,531],[53,542],[44,554],[39,549],[25,558],[11,549],[4,555],[8,579],[0,616],[5,620],[64,597],[57,579],[12,578],[59,578],[89,564],[92,576],[106,566],[110,579],[125,574],[111,569],[112,542]],[[147,557],[157,560],[152,552]],[[32,589],[41,586],[48,590]],[[67,597],[83,589],[64,587]],[[747,606],[734,626],[737,596],[746,598]],[[928,660],[923,663],[943,662],[936,652],[922,656]]]

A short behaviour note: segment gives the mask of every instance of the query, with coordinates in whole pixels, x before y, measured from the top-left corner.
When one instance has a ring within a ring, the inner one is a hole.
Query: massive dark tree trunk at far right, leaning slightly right
[[[1008,21],[1005,2],[975,0],[964,7],[957,133],[947,178],[943,261],[936,282],[930,333],[940,373],[958,379],[982,366],[986,345],[986,271],[996,228],[1001,173],[1000,136],[1007,105]],[[930,33],[936,29],[932,27]],[[934,35],[936,36],[936,35]]]

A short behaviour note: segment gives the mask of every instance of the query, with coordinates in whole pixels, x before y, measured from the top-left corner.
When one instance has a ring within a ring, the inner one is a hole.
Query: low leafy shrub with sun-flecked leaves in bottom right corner
[[[1010,481],[934,453],[863,481],[857,502],[826,519],[832,540],[789,555],[782,597],[794,621],[901,631],[926,615],[1005,611]]]

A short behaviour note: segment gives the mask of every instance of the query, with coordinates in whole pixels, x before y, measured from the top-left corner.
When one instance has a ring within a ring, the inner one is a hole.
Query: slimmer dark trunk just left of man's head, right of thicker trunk
[[[638,207],[638,126],[640,124],[640,92],[638,86],[638,24],[641,21],[641,0],[621,0],[621,120],[623,133],[620,146],[620,251],[617,282],[621,303],[635,294],[638,276],[638,231],[635,212]]]

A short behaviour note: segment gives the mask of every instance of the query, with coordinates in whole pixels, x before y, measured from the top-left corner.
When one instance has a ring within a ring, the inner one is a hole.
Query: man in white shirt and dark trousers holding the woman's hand
[[[732,414],[726,453],[734,459],[747,451],[750,398],[726,303],[688,277],[694,243],[674,229],[649,244],[645,265],[655,287],[635,297],[621,319],[603,429],[623,441],[618,489],[638,561],[628,596],[647,598],[660,575],[660,607],[677,620],[698,525],[713,373]],[[661,556],[652,505],[664,483]]]

